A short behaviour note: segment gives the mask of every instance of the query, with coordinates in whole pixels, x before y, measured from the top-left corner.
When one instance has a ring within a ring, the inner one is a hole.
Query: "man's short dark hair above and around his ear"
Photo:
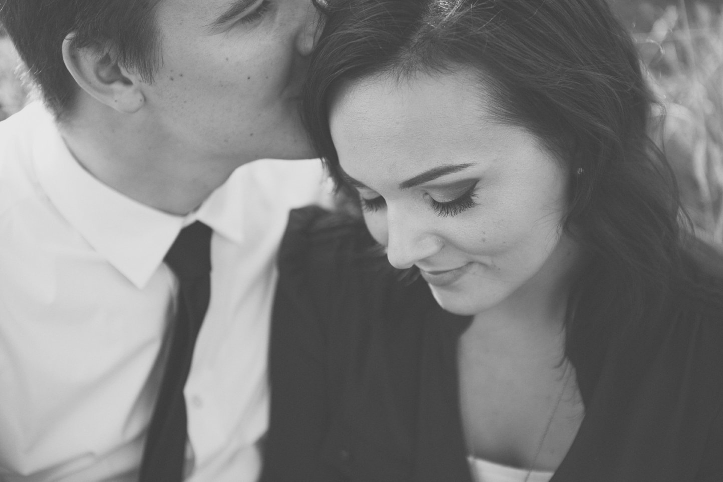
[[[107,48],[114,61],[152,79],[158,61],[155,9],[161,0],[0,0],[0,22],[43,92],[61,116],[78,86],[61,47],[74,35],[78,48]]]

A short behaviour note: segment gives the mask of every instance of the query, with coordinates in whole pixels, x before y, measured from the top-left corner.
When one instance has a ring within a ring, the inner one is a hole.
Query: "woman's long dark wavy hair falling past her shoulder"
[[[573,287],[568,334],[579,329],[603,346],[617,323],[647,330],[646,320],[664,314],[683,273],[680,203],[649,137],[654,98],[636,48],[606,1],[330,0],[320,8],[304,115],[338,183],[328,112],[343,84],[475,69],[497,120],[534,133],[568,166],[564,227],[591,260]]]

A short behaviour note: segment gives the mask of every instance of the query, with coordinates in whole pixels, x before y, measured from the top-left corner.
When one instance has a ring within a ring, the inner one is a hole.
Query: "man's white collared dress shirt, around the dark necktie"
[[[171,216],[82,169],[40,105],[0,123],[0,480],[137,478],[177,288],[163,256],[200,219],[213,273],[185,389],[188,480],[255,481],[274,258],[322,177],[318,160],[252,162]]]

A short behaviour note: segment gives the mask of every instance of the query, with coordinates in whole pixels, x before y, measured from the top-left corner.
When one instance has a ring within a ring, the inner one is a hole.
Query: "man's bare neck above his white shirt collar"
[[[85,109],[59,126],[77,162],[119,193],[170,214],[188,214],[223,184],[241,161],[194,152],[154,128],[142,113]]]

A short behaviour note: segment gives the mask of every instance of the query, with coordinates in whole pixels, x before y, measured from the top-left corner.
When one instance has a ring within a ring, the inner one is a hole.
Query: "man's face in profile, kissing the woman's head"
[[[206,159],[314,157],[299,119],[310,0],[163,0],[162,64],[143,85],[159,143]]]

